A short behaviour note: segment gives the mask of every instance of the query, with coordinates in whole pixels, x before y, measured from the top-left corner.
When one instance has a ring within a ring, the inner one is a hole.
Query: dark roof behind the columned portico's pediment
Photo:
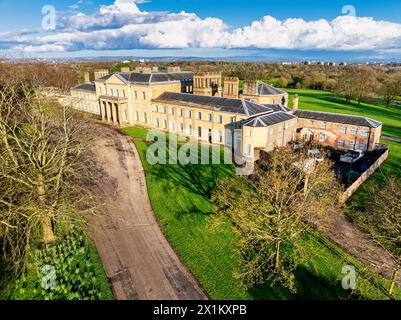
[[[120,79],[130,83],[159,83],[159,82],[171,82],[171,81],[183,81],[192,80],[192,72],[152,72],[152,73],[140,73],[140,72],[116,72],[105,75],[98,79],[98,81],[106,81],[112,75],[117,75]]]

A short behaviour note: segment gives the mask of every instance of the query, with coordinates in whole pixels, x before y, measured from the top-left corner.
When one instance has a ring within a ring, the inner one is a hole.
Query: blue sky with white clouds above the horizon
[[[401,61],[401,0],[0,0],[0,55]]]

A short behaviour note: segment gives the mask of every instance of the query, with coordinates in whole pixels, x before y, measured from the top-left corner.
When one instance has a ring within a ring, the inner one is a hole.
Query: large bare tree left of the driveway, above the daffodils
[[[0,88],[0,240],[14,271],[26,267],[32,245],[81,222],[76,209],[90,203],[90,136],[66,108],[45,103],[38,87]]]

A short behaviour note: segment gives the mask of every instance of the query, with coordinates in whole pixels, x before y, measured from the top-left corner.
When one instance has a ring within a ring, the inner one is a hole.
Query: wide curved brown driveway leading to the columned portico
[[[114,297],[206,299],[159,228],[134,144],[113,129],[99,131],[94,150],[104,170],[103,205],[88,222]]]

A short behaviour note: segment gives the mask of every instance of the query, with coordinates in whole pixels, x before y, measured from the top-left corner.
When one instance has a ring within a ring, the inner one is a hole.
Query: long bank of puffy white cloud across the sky
[[[4,39],[28,52],[138,48],[262,48],[297,50],[379,51],[401,48],[401,24],[368,17],[339,16],[334,20],[277,20],[265,16],[230,30],[218,18],[196,14],[141,11],[144,0],[116,0],[97,13],[60,18],[52,34],[24,33]]]

